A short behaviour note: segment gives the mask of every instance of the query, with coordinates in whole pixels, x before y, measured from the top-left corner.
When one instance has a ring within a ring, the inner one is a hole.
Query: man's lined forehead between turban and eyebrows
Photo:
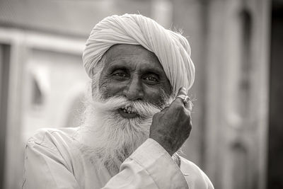
[[[115,64],[115,62],[130,61],[139,64],[144,63],[142,64],[144,67],[148,67],[149,69],[160,69],[160,71],[163,72],[163,67],[154,52],[146,50],[141,45],[113,45],[105,53],[105,58],[106,64],[108,64],[106,66],[109,66],[109,64]]]

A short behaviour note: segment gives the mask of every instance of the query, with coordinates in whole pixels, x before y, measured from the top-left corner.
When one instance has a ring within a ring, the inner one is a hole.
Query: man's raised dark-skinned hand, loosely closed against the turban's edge
[[[178,96],[187,96],[180,88]],[[191,102],[184,103],[176,98],[168,107],[156,113],[151,123],[149,138],[156,140],[172,156],[183,145],[192,130],[190,117]]]

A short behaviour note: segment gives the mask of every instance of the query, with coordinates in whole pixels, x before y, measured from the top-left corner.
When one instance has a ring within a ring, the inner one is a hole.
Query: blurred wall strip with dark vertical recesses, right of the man
[[[209,1],[205,168],[215,188],[265,188],[270,1]]]

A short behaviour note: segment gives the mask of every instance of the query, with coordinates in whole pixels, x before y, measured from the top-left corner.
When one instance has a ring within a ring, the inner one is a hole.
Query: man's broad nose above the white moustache
[[[129,85],[125,88],[124,94],[129,101],[143,100],[144,91],[141,85],[141,79],[137,76],[133,77]]]

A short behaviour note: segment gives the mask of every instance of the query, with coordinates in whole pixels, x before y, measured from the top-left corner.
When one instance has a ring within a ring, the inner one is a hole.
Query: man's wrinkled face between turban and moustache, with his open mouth
[[[141,45],[114,45],[105,54],[99,89],[103,98],[125,96],[129,101],[145,101],[161,107],[171,95],[171,84],[156,55]],[[124,118],[137,115],[120,110]]]

